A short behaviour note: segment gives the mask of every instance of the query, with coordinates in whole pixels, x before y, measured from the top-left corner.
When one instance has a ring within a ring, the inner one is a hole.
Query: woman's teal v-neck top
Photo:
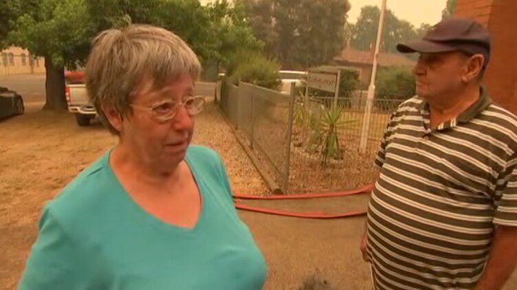
[[[140,208],[109,154],[47,203],[19,289],[254,290],[267,266],[239,219],[223,162],[203,146],[186,161],[203,203],[195,227],[171,225]]]

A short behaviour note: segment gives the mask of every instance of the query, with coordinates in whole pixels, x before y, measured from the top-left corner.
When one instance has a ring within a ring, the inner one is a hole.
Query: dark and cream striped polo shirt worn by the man
[[[494,226],[517,226],[517,118],[483,92],[430,128],[419,97],[391,116],[368,210],[375,289],[472,289]]]

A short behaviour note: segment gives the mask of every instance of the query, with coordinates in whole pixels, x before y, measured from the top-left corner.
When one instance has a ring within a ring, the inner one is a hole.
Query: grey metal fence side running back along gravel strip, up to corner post
[[[289,177],[290,126],[292,96],[245,82],[239,86],[221,85],[219,104],[272,176],[278,188],[286,191]]]

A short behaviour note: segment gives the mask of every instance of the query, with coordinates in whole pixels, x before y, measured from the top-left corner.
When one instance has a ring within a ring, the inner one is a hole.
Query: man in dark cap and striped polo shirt
[[[391,116],[361,249],[375,289],[501,289],[517,263],[517,118],[481,86],[489,33],[452,17],[420,41]],[[514,289],[514,288],[512,288]]]

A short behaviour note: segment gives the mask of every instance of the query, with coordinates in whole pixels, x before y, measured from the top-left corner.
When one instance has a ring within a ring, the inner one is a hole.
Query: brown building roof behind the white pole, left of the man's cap
[[[334,57],[334,60],[340,64],[359,64],[359,65],[371,65],[373,63],[373,50],[358,50],[353,47],[347,47],[341,51],[341,53]],[[391,54],[381,52],[379,54],[379,65],[390,66],[390,65],[415,65],[415,60],[406,58],[402,54]]]

